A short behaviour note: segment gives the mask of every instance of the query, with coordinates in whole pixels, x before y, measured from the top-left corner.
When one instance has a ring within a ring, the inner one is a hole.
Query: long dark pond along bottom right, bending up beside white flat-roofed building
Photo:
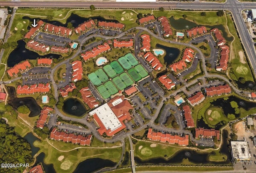
[[[222,146],[220,148],[220,153],[227,155],[226,161],[210,161],[209,156],[214,155],[215,151],[212,151],[210,153],[199,153],[192,149],[181,149],[180,151],[177,151],[172,157],[170,157],[168,160],[164,157],[156,157],[148,160],[141,160],[139,157],[134,157],[134,160],[137,164],[140,165],[146,165],[146,164],[166,164],[166,165],[172,165],[177,163],[182,163],[184,159],[188,159],[188,161],[195,163],[195,164],[229,164],[231,161],[231,153],[228,149],[228,132],[223,131],[222,136]]]

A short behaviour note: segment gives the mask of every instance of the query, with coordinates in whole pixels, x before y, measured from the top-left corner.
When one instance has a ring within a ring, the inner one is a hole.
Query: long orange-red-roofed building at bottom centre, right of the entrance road
[[[168,142],[169,144],[178,144],[182,146],[188,145],[189,136],[185,135],[184,137],[171,134],[162,134],[160,132],[153,132],[152,128],[148,129],[147,138],[152,141]]]

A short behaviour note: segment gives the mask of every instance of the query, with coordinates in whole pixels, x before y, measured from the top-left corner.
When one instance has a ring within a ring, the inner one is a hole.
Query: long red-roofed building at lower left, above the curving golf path
[[[67,134],[65,132],[58,132],[56,128],[52,129],[50,134],[50,138],[52,140],[64,141],[64,142],[72,142],[72,144],[80,144],[80,145],[90,145],[92,140],[92,135],[88,136],[75,135],[75,134]]]

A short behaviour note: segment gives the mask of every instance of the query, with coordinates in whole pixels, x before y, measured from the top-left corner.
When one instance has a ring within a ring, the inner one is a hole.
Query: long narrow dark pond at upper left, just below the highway
[[[52,20],[52,21],[48,21],[47,19],[41,19],[41,18],[30,18],[28,16],[24,16],[22,19],[28,19],[30,20],[30,22],[33,22],[34,19],[36,20],[42,20],[44,22],[47,22],[49,24],[53,24],[53,25],[56,25],[56,26],[64,26],[64,27],[67,27],[68,26],[68,23],[71,22],[73,27],[76,28],[78,27],[78,25],[92,19],[92,20],[97,20],[97,21],[107,21],[107,22],[116,22],[116,23],[119,23],[118,20],[110,20],[110,19],[105,19],[103,18],[102,16],[93,16],[93,17],[90,17],[90,18],[84,18],[84,17],[81,17],[81,16],[78,16],[77,14],[74,14],[72,13],[69,18],[66,20],[66,23],[63,24],[59,21],[56,21],[56,20]],[[30,28],[28,28],[30,29]]]

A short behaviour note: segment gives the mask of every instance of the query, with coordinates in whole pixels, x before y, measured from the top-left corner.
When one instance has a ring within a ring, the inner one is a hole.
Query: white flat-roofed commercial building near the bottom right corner
[[[250,160],[248,143],[246,141],[231,141],[232,157],[235,161]]]

